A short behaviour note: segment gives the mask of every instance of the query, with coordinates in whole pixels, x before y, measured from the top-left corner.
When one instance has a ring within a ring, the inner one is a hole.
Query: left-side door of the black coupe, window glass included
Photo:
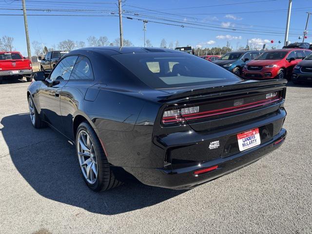
[[[60,94],[62,87],[68,82],[78,56],[62,59],[46,81],[42,82],[38,99],[41,112],[59,132],[64,133],[60,116]]]

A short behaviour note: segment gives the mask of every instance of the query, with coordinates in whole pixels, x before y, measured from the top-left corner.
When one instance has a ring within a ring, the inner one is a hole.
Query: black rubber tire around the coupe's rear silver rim
[[[87,179],[85,178],[83,172],[82,172],[82,168],[80,166],[80,161],[79,161],[79,156],[78,156],[78,136],[79,133],[81,131],[86,132],[89,137],[92,140],[93,143],[93,148],[95,151],[95,155],[96,155],[96,159],[97,159],[97,178],[95,180],[95,182],[89,183],[89,181],[87,181]],[[92,189],[93,191],[106,191],[109,189],[113,189],[119,185],[122,184],[121,181],[117,180],[117,178],[115,177],[113,171],[111,170],[111,167],[109,165],[109,162],[107,160],[107,157],[104,153],[104,150],[102,148],[102,145],[98,139],[98,136],[96,134],[96,132],[94,131],[94,129],[90,126],[90,124],[87,121],[84,121],[82,123],[79,124],[77,132],[76,132],[76,153],[77,153],[77,158],[78,158],[78,163],[80,166],[80,172],[82,174],[82,177],[85,181],[85,183],[87,184],[87,186]]]

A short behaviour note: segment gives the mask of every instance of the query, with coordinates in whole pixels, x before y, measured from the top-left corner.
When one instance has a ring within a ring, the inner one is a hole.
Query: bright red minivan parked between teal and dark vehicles
[[[281,49],[264,52],[248,62],[242,71],[246,78],[290,78],[293,67],[312,53],[306,49]]]

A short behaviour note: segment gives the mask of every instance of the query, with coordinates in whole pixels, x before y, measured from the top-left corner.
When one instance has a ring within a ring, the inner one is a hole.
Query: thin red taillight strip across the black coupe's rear
[[[250,108],[254,108],[258,106],[263,106],[266,104],[273,103],[275,101],[280,101],[281,99],[282,98],[269,98],[266,100],[255,101],[251,103],[242,104],[239,106],[232,106],[232,107],[227,107],[227,108],[222,108],[222,109],[217,109],[217,110],[212,110],[212,111],[204,111],[204,112],[193,113],[193,114],[186,114],[186,115],[182,115],[181,117],[179,116],[163,117],[162,122],[169,123],[169,122],[184,121],[184,120],[195,119],[195,118],[217,116],[217,115],[232,113],[235,111],[242,111],[242,110],[246,110],[246,109],[250,109]]]

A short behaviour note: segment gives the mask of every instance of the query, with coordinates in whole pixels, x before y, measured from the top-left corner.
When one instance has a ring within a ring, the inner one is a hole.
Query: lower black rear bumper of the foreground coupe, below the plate
[[[252,149],[240,152],[238,154],[219,157],[214,160],[197,162],[188,164],[182,168],[161,168],[161,169],[149,169],[149,168],[124,168],[127,172],[131,173],[142,183],[157,187],[171,188],[171,189],[188,189],[201,183],[213,180],[217,177],[224,176],[235,170],[243,168],[263,156],[271,153],[282,145],[286,138],[287,131],[281,129],[281,131],[274,136],[270,141],[265,142]],[[218,166],[217,169],[195,176],[194,172],[200,169],[210,168]]]

